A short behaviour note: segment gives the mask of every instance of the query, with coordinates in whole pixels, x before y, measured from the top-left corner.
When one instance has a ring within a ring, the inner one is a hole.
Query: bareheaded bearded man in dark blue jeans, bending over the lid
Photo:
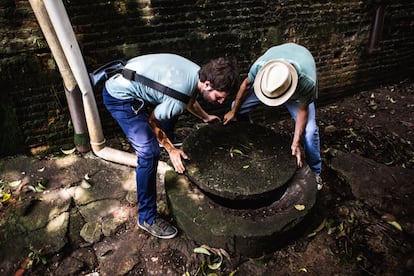
[[[163,94],[121,74],[108,79],[103,88],[106,108],[117,120],[137,154],[136,181],[138,226],[158,238],[173,238],[177,229],[156,212],[156,173],[161,144],[178,173],[185,167],[187,155],[174,147],[161,124],[186,109],[204,122],[220,121],[203,110],[197,102],[201,95],[210,103],[222,104],[239,86],[239,73],[224,58],[200,67],[175,54],[150,54],[128,61],[125,68],[190,97],[188,103]]]

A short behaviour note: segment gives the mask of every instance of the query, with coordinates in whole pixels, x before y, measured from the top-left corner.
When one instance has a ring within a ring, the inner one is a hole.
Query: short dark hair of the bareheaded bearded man
[[[228,94],[235,94],[239,89],[240,75],[236,65],[228,59],[216,58],[201,66],[198,72],[200,81],[210,81],[211,87]]]

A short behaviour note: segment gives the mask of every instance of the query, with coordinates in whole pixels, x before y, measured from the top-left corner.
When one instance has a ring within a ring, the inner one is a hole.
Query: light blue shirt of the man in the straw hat
[[[298,86],[289,100],[298,100],[300,105],[308,105],[317,98],[315,60],[308,49],[295,43],[274,46],[259,57],[250,67],[247,75],[251,83],[254,83],[260,68],[272,59],[283,59],[296,68]]]

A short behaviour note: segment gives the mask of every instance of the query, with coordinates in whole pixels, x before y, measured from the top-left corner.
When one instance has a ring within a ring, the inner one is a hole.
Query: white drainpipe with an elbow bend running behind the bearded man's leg
[[[70,72],[73,73],[73,77],[76,80],[76,83],[78,84],[79,89],[82,93],[84,115],[93,152],[98,157],[101,157],[103,159],[135,167],[137,165],[137,157],[135,154],[105,146],[105,138],[102,132],[101,120],[99,117],[98,108],[96,106],[95,97],[93,95],[93,89],[89,80],[88,72],[86,70],[79,45],[75,38],[72,25],[69,22],[69,17],[66,13],[66,9],[62,1],[30,0],[30,3],[32,7],[35,7],[33,10],[42,12],[42,9],[40,7],[45,8],[46,13],[41,13],[39,17],[49,17],[51,23],[49,26],[54,30],[54,32],[52,31],[51,33],[57,36],[57,41],[59,43],[56,42],[55,44],[60,45],[60,47],[53,47],[53,49],[51,47],[51,50],[56,52],[52,52],[54,58],[56,60],[59,59],[59,62],[56,61],[56,63],[67,63],[69,65],[67,68],[64,67],[62,70],[63,74],[67,72],[65,69],[69,69]],[[39,21],[39,24],[43,25],[45,22],[41,20]],[[46,22],[46,24],[48,23]],[[45,31],[46,30],[47,29],[45,29]],[[53,43],[54,41],[51,42]]]

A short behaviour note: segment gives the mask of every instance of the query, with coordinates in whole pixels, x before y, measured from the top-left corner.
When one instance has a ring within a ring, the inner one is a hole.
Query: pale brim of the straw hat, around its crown
[[[291,75],[291,83],[289,88],[280,96],[278,97],[268,97],[264,94],[262,91],[262,80],[263,75],[266,72],[266,70],[269,70],[269,68],[273,67],[275,63],[282,63],[287,66],[289,69],[290,75]],[[254,80],[254,92],[257,96],[257,98],[268,106],[278,106],[284,104],[289,98],[295,93],[296,86],[298,85],[298,73],[296,72],[295,67],[281,59],[273,59],[265,63],[262,68],[260,68],[259,72],[257,73],[257,76]]]

